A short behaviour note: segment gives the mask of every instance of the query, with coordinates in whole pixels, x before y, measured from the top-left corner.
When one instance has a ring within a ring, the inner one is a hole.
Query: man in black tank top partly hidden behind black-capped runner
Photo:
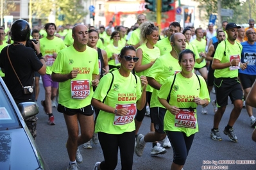
[[[212,70],[212,59],[214,58],[215,51],[219,43],[226,39],[225,33],[222,29],[219,29],[217,32],[218,42],[210,45],[207,52],[207,60],[210,61],[209,69],[208,69],[208,78],[207,78],[207,88],[210,93],[212,88],[214,87],[214,70]],[[214,112],[217,111],[216,100],[212,100],[212,105],[214,106]]]

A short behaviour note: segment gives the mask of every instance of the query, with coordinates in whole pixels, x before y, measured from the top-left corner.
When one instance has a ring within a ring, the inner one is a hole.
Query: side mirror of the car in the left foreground
[[[39,112],[35,102],[22,102],[18,104],[18,107],[23,118],[35,116]]]

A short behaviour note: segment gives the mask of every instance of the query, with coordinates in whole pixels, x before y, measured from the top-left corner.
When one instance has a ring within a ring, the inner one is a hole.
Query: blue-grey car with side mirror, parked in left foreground
[[[0,169],[48,169],[23,119],[37,114],[37,105],[16,105],[1,77],[0,98]]]

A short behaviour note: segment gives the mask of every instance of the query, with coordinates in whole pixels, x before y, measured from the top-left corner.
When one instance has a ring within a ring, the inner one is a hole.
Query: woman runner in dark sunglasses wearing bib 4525
[[[122,169],[132,169],[135,123],[137,109],[146,103],[145,76],[133,75],[136,57],[135,48],[123,47],[119,57],[121,67],[102,77],[92,97],[92,105],[98,107],[95,132],[105,160],[96,162],[94,169],[112,170],[117,166],[118,148]]]

